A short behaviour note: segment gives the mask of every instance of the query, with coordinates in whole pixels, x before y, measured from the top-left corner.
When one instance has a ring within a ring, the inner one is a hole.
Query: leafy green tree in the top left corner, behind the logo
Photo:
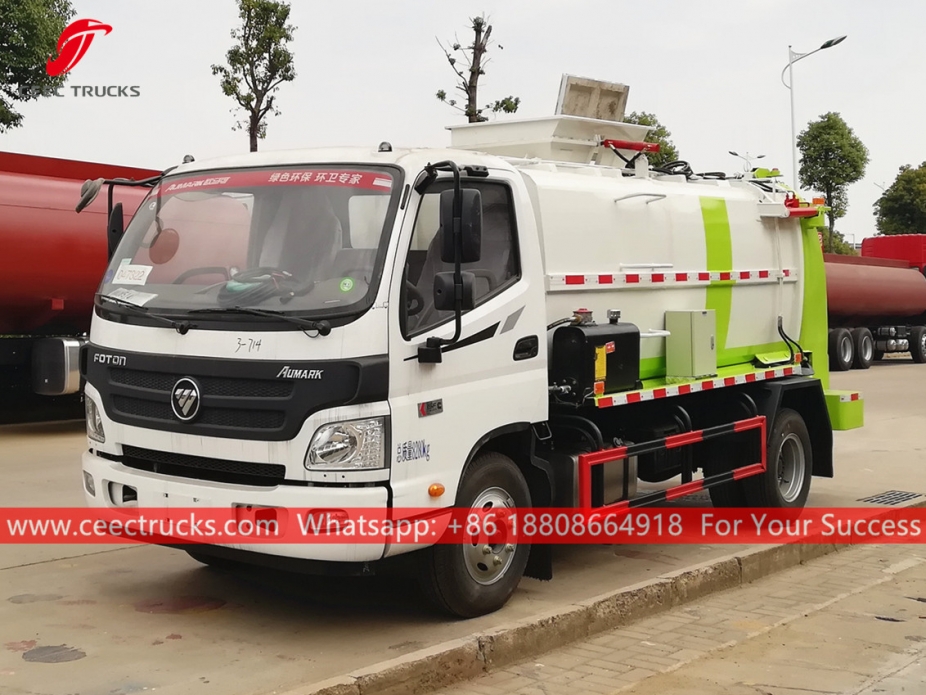
[[[45,70],[74,16],[70,0],[0,0],[0,133],[22,125],[16,102],[53,94],[67,77]]]

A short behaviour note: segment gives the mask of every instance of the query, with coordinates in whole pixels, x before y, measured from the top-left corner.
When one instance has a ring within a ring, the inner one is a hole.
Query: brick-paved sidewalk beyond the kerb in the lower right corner
[[[921,552],[844,550],[440,695],[919,695]]]

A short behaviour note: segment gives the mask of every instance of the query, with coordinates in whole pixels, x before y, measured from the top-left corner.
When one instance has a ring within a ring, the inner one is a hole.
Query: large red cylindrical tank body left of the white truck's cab
[[[141,180],[160,172],[0,152],[0,335],[90,329],[93,294],[107,265],[107,187],[74,211],[87,179]],[[117,186],[131,219],[147,188]]]

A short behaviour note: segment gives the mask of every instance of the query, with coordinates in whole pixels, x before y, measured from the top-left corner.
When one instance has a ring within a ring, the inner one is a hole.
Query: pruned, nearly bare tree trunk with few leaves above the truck
[[[473,42],[465,48],[455,39],[452,43],[444,46],[440,39],[438,45],[444,52],[447,62],[453,69],[459,82],[456,89],[465,96],[465,106],[460,106],[456,99],[448,99],[447,92],[443,89],[438,90],[437,98],[439,101],[449,104],[457,111],[463,113],[470,123],[482,123],[489,120],[483,115],[483,111],[492,113],[515,113],[521,104],[521,98],[516,96],[507,96],[497,101],[486,104],[479,108],[479,78],[485,75],[485,67],[491,62],[491,58],[486,58],[489,46],[492,45],[492,25],[488,23],[485,15],[470,18],[470,28],[473,30]],[[498,47],[503,50],[503,46]],[[459,54],[459,58],[455,56]],[[465,66],[463,69],[457,65],[462,61]]]

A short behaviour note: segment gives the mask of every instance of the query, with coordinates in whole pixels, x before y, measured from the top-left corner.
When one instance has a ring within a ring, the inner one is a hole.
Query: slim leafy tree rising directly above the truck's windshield
[[[212,74],[221,77],[222,92],[232,97],[245,118],[232,130],[247,130],[251,152],[257,141],[267,137],[267,116],[278,116],[276,93],[284,82],[296,78],[293,54],[287,44],[295,27],[287,24],[290,6],[275,0],[238,0],[241,26],[233,29],[232,46],[225,59],[228,66],[213,65]]]

